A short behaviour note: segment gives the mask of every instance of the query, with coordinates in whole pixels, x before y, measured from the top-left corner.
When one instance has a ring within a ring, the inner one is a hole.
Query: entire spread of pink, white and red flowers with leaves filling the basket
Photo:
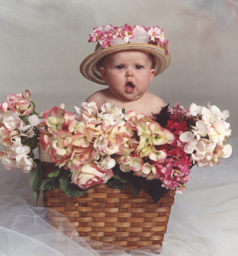
[[[59,186],[67,196],[81,196],[95,184],[108,183],[117,189],[130,184],[134,197],[143,184],[158,201],[168,189],[182,193],[195,164],[215,166],[232,153],[224,144],[231,135],[229,112],[210,104],[167,105],[154,114],[155,121],[108,103],[101,112],[95,102],[80,106],[73,114],[61,104],[39,118],[28,90],[9,94],[0,106],[3,167],[30,172],[36,200],[40,190]],[[56,164],[44,180],[42,162],[33,161],[39,144]]]

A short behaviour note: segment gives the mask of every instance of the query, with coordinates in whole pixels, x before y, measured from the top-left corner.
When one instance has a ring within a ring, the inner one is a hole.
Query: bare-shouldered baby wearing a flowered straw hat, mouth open
[[[109,102],[126,112],[134,110],[148,116],[158,113],[165,103],[160,97],[147,92],[147,88],[154,76],[170,63],[163,30],[158,27],[125,25],[118,28],[109,25],[94,28],[90,36],[90,42],[96,38],[101,47],[107,48],[96,47],[95,53],[83,61],[80,71],[87,79],[108,85],[108,88],[97,91],[86,101],[96,102],[99,109]],[[107,36],[106,43],[104,36]],[[90,64],[88,59],[94,64]],[[85,65],[93,66],[90,70],[89,66],[84,68]]]

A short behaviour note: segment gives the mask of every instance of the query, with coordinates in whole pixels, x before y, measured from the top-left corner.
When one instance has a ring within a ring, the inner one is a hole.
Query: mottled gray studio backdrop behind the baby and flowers
[[[151,82],[150,92],[171,106],[230,110],[237,129],[238,2],[235,0],[0,1],[0,103],[8,93],[32,93],[38,112],[65,103],[74,112],[105,88],[84,79],[81,61],[94,51],[95,26],[129,24],[164,28],[170,67]]]

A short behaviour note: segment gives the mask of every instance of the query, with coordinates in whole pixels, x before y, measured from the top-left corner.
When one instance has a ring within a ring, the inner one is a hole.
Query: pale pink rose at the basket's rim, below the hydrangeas
[[[83,164],[73,172],[72,183],[80,188],[87,189],[95,184],[107,183],[112,176],[113,171],[111,169],[100,168],[97,164],[91,162]]]

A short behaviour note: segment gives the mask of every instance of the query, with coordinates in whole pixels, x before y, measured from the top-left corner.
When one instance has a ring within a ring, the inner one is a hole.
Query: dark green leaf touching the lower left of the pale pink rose
[[[87,189],[79,188],[77,185],[71,183],[69,175],[64,175],[59,180],[60,189],[65,192],[66,196],[82,196]]]

